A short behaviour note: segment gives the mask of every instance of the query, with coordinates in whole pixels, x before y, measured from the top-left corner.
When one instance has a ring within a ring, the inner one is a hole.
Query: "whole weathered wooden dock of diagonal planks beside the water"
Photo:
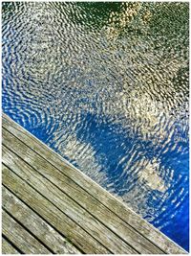
[[[3,254],[185,254],[7,115]]]

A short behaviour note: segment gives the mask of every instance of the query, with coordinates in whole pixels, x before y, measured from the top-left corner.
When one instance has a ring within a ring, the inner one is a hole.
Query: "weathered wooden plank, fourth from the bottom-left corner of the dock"
[[[21,198],[33,211],[37,212],[45,221],[51,223],[57,231],[80,248],[81,251],[87,254],[111,253],[4,164],[2,165],[2,180],[3,184],[17,198]]]

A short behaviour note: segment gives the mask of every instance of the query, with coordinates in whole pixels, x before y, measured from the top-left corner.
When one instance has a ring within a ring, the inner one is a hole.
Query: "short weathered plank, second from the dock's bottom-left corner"
[[[2,211],[2,229],[3,234],[23,253],[51,253],[43,244],[40,244],[34,237],[32,237],[32,235],[18,222],[14,221],[4,210]]]

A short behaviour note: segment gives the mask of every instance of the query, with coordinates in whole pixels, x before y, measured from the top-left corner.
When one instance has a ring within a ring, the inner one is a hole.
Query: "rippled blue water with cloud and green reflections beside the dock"
[[[3,3],[3,110],[188,249],[188,3]]]

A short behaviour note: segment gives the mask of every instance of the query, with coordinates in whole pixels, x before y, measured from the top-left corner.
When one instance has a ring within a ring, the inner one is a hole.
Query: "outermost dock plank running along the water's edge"
[[[37,151],[42,157],[45,157],[46,155],[47,161],[59,169],[60,172],[63,172],[63,174],[73,179],[73,181],[82,189],[84,189],[94,198],[97,198],[101,203],[113,211],[121,220],[126,221],[133,228],[137,229],[142,236],[147,238],[153,244],[157,244],[163,251],[170,254],[187,253],[178,244],[175,244],[173,241],[159,232],[157,228],[140,218],[125,204],[113,197],[110,193],[96,184],[96,182],[94,182],[91,178],[81,173],[59,154],[48,148],[45,144],[36,139],[30,132],[24,128],[21,128],[5,114],[3,114],[3,127],[10,130],[24,143],[29,145],[33,151]]]

